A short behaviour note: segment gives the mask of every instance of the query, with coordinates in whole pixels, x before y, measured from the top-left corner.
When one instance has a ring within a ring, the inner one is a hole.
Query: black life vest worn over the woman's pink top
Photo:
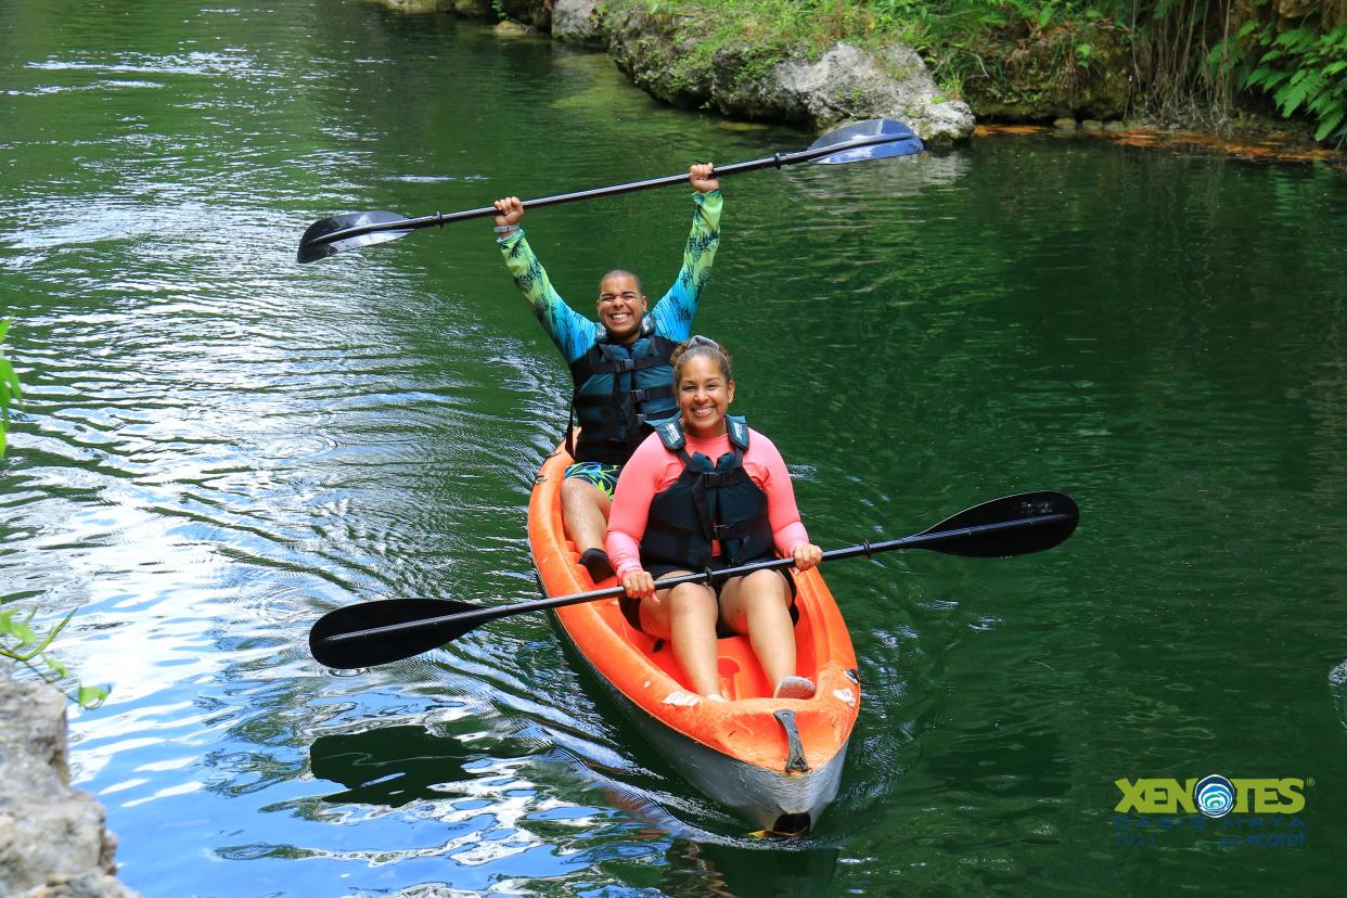
[[[664,448],[683,462],[683,473],[651,499],[641,537],[641,564],[649,569],[704,571],[711,567],[711,541],[719,541],[715,568],[775,557],[766,493],[744,470],[749,427],[735,415],[725,417],[731,452],[714,464],[700,452],[687,454],[679,419],[655,421]]]

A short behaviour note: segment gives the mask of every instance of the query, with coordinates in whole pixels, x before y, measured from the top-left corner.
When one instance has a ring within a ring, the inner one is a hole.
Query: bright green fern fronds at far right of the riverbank
[[[1241,36],[1253,38],[1262,54],[1242,86],[1270,94],[1285,117],[1311,116],[1315,140],[1340,147],[1347,143],[1347,26],[1325,31],[1319,23],[1307,16],[1280,34],[1272,24],[1246,24]]]

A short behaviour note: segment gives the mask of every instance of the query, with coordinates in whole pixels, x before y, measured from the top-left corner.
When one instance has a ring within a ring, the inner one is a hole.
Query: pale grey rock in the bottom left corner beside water
[[[136,898],[116,879],[116,837],[66,754],[66,697],[0,668],[0,895]]]

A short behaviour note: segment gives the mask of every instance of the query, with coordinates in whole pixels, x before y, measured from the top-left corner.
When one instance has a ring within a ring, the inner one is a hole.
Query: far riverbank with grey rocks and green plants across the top
[[[731,118],[897,114],[935,143],[1033,127],[1347,164],[1347,0],[376,1],[603,47],[656,98]],[[904,82],[909,59],[925,86],[850,77]]]

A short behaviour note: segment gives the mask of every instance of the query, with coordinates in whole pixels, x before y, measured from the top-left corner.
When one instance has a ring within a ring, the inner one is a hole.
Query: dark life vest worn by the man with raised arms
[[[566,451],[577,462],[625,464],[656,421],[678,411],[674,400],[674,368],[669,355],[676,343],[655,334],[649,315],[641,322],[634,343],[609,342],[599,337],[587,353],[571,362],[571,417],[566,427]],[[579,420],[581,439],[572,444],[571,429]]]

